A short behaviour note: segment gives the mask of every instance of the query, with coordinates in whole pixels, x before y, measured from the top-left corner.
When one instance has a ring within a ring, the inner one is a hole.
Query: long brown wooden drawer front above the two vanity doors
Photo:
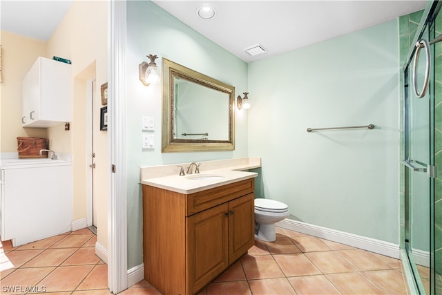
[[[198,193],[187,195],[186,216],[191,216],[200,211],[215,207],[218,204],[229,202],[230,200],[239,198],[240,196],[253,193],[255,188],[255,180],[253,178],[233,182],[221,187],[214,187]]]

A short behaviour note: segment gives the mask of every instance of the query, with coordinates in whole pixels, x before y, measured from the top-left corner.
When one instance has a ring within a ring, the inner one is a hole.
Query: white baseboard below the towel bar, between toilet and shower
[[[298,231],[302,234],[308,234],[309,236],[316,236],[318,238],[324,238],[325,240],[332,240],[333,242],[339,242],[359,249],[372,251],[392,258],[401,258],[401,247],[391,242],[358,236],[356,234],[349,234],[345,231],[337,231],[336,229],[328,229],[327,227],[319,227],[317,225],[310,225],[305,222],[291,219],[277,222],[276,226],[291,231]]]

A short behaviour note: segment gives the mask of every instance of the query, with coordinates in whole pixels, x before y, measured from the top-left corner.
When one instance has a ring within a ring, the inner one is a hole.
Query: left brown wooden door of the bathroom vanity
[[[187,293],[194,294],[228,266],[227,203],[186,218]]]

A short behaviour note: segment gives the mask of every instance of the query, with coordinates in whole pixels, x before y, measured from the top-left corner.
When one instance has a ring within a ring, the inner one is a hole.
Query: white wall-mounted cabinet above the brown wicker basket
[[[23,79],[23,127],[45,128],[71,122],[72,83],[70,64],[37,58]]]

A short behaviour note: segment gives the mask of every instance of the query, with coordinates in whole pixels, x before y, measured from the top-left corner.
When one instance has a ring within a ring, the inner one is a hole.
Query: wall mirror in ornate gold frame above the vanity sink
[[[162,59],[162,152],[235,149],[235,87]]]

